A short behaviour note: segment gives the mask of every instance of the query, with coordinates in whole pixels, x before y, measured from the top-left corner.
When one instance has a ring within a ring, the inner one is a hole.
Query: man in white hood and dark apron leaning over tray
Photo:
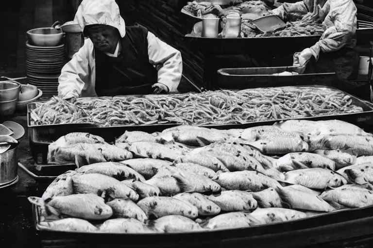
[[[144,27],[126,27],[115,0],[83,0],[74,22],[89,38],[62,68],[60,97],[177,91],[181,53]]]

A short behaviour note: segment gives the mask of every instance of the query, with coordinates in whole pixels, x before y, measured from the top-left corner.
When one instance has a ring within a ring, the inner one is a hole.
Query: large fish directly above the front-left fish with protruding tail
[[[106,201],[117,198],[137,201],[139,196],[135,190],[121,184],[115,178],[102,174],[83,174],[72,177],[72,186],[76,194],[97,194]]]

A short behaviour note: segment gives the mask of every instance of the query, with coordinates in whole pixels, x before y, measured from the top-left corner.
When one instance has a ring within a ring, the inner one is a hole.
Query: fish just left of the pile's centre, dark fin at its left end
[[[172,172],[180,186],[182,192],[197,192],[197,193],[219,193],[221,187],[218,183],[209,179],[208,177],[190,174],[188,172]]]

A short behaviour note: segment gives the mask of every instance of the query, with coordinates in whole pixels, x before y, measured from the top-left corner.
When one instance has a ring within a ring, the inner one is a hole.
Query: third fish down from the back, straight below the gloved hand
[[[308,168],[328,168],[334,171],[336,163],[318,154],[288,153],[277,159],[275,168],[284,172]]]

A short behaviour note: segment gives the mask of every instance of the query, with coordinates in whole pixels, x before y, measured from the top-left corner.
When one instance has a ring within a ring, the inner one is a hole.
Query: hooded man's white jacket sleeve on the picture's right
[[[183,72],[181,53],[158,39],[148,31],[149,62],[158,70],[158,83],[169,88],[169,92],[176,92]]]

